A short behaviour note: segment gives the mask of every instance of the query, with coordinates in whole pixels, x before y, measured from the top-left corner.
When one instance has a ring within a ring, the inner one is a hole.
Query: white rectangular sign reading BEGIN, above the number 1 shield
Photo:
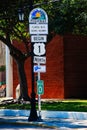
[[[47,42],[46,35],[32,35],[31,42]]]

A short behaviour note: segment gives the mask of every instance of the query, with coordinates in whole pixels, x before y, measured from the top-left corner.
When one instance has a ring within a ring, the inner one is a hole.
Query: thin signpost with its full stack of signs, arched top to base
[[[41,8],[35,8],[29,15],[29,33],[31,35],[31,42],[33,43],[34,54],[34,72],[38,73],[37,94],[38,94],[38,111],[39,119],[41,119],[41,95],[44,93],[43,80],[40,80],[40,73],[46,72],[46,66],[40,65],[46,63],[46,48],[48,34],[48,16]]]

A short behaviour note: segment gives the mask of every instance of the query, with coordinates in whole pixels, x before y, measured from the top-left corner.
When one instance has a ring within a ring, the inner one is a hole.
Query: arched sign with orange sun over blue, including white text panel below
[[[48,16],[41,8],[35,8],[29,15],[29,33],[31,35],[48,34]]]

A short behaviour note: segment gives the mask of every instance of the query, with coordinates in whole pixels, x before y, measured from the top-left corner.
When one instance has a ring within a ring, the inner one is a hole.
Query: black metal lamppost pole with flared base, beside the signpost
[[[30,11],[33,9],[33,0],[30,2]],[[37,121],[38,116],[37,116],[37,110],[36,110],[36,94],[35,94],[35,86],[34,86],[34,71],[33,71],[33,43],[31,43],[31,76],[32,76],[32,92],[31,92],[31,110],[30,110],[30,116],[28,118],[28,121]]]

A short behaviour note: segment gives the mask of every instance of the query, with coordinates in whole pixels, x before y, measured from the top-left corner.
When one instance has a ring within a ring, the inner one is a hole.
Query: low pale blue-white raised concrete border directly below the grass
[[[28,117],[28,110],[0,109],[0,116],[25,116]],[[87,112],[68,111],[41,111],[42,118],[67,118],[74,120],[87,120]]]

